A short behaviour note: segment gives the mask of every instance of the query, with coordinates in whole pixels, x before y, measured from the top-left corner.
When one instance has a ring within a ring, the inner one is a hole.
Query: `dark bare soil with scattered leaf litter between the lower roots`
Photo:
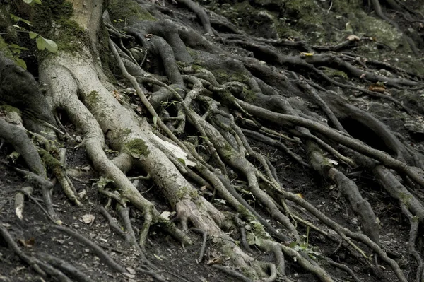
[[[69,134],[76,137],[74,129],[69,128]],[[351,230],[360,230],[358,218],[353,214],[351,208],[348,208],[348,203],[343,197],[340,197],[335,187],[330,184],[320,183],[322,180],[314,175],[312,171],[305,170],[298,163],[294,163],[290,158],[283,155],[275,148],[266,146],[262,143],[252,141],[252,146],[259,149],[271,160],[273,165],[278,170],[283,187],[290,192],[301,194],[310,203],[317,206],[320,211],[325,213],[334,220]],[[107,220],[98,211],[98,206],[105,203],[105,197],[98,193],[95,182],[98,181],[98,176],[90,168],[90,163],[86,158],[86,153],[81,148],[76,148],[78,143],[67,142],[64,144],[67,152],[67,163],[69,168],[82,171],[86,176],[78,178],[74,181],[74,185],[78,193],[86,194],[86,202],[88,203],[83,208],[78,208],[69,203],[66,196],[60,191],[59,184],[56,185],[53,192],[53,202],[57,204],[57,213],[64,226],[77,230],[84,237],[90,238],[98,245],[102,246],[113,259],[119,264],[127,267],[130,274],[116,274],[108,269],[98,257],[90,253],[90,249],[76,242],[68,235],[60,233],[58,230],[49,228],[51,223],[46,218],[45,214],[40,211],[40,208],[32,201],[28,201],[25,205],[24,218],[19,221],[13,209],[14,195],[18,189],[25,187],[25,179],[16,172],[0,165],[0,219],[4,223],[4,227],[13,228],[9,232],[16,236],[19,244],[25,251],[29,252],[45,252],[54,254],[55,256],[66,259],[74,266],[83,269],[90,278],[94,281],[154,281],[151,276],[145,275],[136,271],[138,264],[138,256],[134,249],[124,245],[122,238],[110,230]],[[295,148],[293,148],[295,151]],[[1,148],[0,159],[5,160],[9,153],[13,152],[11,146],[5,145]],[[302,152],[298,151],[296,153]],[[18,165],[23,165],[18,162]],[[365,173],[365,172],[364,172]],[[389,246],[392,251],[404,256],[404,264],[400,263],[401,268],[408,273],[408,269],[413,269],[413,264],[409,263],[406,245],[400,245],[401,241],[408,240],[408,222],[402,221],[401,211],[397,208],[396,203],[391,203],[391,199],[386,193],[380,190],[377,185],[370,190],[372,182],[370,176],[364,173],[359,173],[356,178],[358,184],[364,184],[364,189],[361,193],[370,201],[372,206],[381,206],[381,212],[376,211],[379,221],[381,222],[382,232],[381,240],[384,245]],[[129,172],[131,175],[131,172]],[[312,181],[311,181],[312,179]],[[324,187],[324,188],[322,188]],[[153,202],[158,207],[160,212],[171,211],[170,206],[167,206],[165,199],[159,193],[156,193],[155,185],[150,181],[139,183],[139,191],[149,201]],[[40,196],[40,193],[35,192],[35,196]],[[213,201],[221,210],[225,206],[219,201]],[[260,212],[261,208],[256,206]],[[132,211],[136,213],[136,211]],[[89,223],[85,223],[85,216],[92,215],[94,219]],[[265,213],[262,213],[265,216]],[[134,216],[134,218],[138,218]],[[313,218],[309,218],[313,222]],[[142,218],[136,219],[134,226],[143,224]],[[237,281],[236,278],[227,276],[217,269],[208,266],[208,262],[219,259],[221,254],[214,248],[213,242],[209,240],[206,245],[206,255],[204,262],[198,263],[194,254],[199,254],[202,240],[197,233],[191,232],[190,237],[194,242],[193,245],[179,245],[172,237],[163,233],[159,228],[151,228],[146,245],[146,255],[148,259],[164,271],[163,275],[170,278],[170,281]],[[366,267],[358,263],[351,257],[348,252],[338,250],[336,255],[331,255],[338,248],[337,244],[326,240],[319,233],[310,230],[307,238],[311,249],[311,255],[325,254],[334,259],[335,262],[343,261],[348,265],[362,281],[375,281],[375,277],[371,274],[364,274],[363,269]],[[3,243],[4,244],[4,243]],[[259,252],[258,249],[254,257],[260,257],[264,261],[271,261],[273,256]],[[398,260],[399,262],[399,260]],[[20,262],[18,257],[0,242],[0,281],[1,282],[19,282],[19,281],[43,281],[33,269],[23,262]],[[134,272],[133,272],[134,270]],[[133,273],[133,274],[131,274]],[[318,281],[315,276],[305,273],[294,262],[286,266],[286,274],[293,281],[312,282]],[[334,273],[334,276],[338,275]],[[54,280],[52,280],[54,281]],[[397,281],[395,276],[387,277],[385,281]]]

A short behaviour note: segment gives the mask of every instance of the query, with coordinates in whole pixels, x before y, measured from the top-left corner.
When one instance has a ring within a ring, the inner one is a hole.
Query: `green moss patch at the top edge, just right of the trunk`
[[[108,11],[114,23],[131,24],[140,20],[158,20],[134,0],[111,0]]]

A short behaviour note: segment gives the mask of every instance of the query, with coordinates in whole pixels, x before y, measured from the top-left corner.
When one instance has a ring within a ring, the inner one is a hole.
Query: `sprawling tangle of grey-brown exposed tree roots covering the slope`
[[[114,23],[119,17],[126,18],[125,26],[121,26],[124,31],[119,25],[114,26],[108,13],[103,13],[110,35],[110,38],[103,38],[103,47],[112,53],[110,59],[111,64],[117,66],[114,69],[117,78],[124,78],[134,88],[132,91],[138,99],[134,100],[128,95],[120,95],[105,79],[98,52],[98,35],[104,28],[100,25],[102,1],[95,2],[83,7],[74,5],[74,8],[81,9],[81,13],[73,16],[73,20],[87,29],[87,38],[73,38],[78,44],[78,52],[59,50],[57,54],[43,57],[40,81],[48,88],[50,105],[46,108],[64,111],[81,134],[82,146],[93,168],[100,173],[98,193],[107,196],[107,207],[116,207],[124,228],[114,220],[110,210],[100,208],[100,212],[107,218],[110,228],[138,252],[141,258],[139,271],[165,281],[160,275],[162,271],[148,261],[144,250],[154,224],[182,245],[192,243],[189,230],[201,234],[203,241],[196,259],[199,264],[204,261],[207,240],[212,240],[220,256],[225,258],[222,260],[225,266],[213,262],[212,267],[241,281],[273,282],[280,278],[290,281],[286,269],[286,262],[290,260],[320,281],[343,279],[332,275],[333,267],[360,281],[359,275],[345,264],[334,262],[323,253],[314,255],[308,245],[309,230],[314,230],[314,233],[338,242],[334,253],[346,250],[364,267],[375,271],[373,275],[391,271],[392,276],[406,282],[401,266],[388,256],[387,246],[380,240],[374,207],[361,194],[359,184],[348,177],[349,170],[355,168],[372,173],[387,194],[399,202],[411,225],[408,250],[418,264],[416,281],[423,279],[423,259],[416,242],[419,224],[424,221],[423,199],[418,196],[418,191],[424,187],[423,155],[399,139],[377,117],[330,90],[336,86],[339,90],[346,90],[347,94],[359,92],[388,100],[412,118],[413,112],[396,98],[373,92],[358,83],[384,81],[392,88],[411,90],[423,86],[422,77],[404,69],[390,69],[388,64],[379,61],[368,61],[367,66],[366,62],[356,59],[355,54],[335,53],[355,46],[357,40],[348,39],[331,46],[310,46],[300,41],[250,37],[227,18],[211,11],[206,13],[192,0],[177,0],[199,18],[204,33],[208,34],[204,37],[184,25],[184,15],[178,11],[156,6],[150,1],[126,0],[128,3],[122,4],[121,12],[111,13]],[[111,2],[114,7],[121,5],[119,1]],[[131,9],[126,6],[129,3]],[[382,12],[378,0],[373,0],[372,5],[377,16],[399,28]],[[211,19],[208,14],[212,15]],[[57,21],[55,25],[61,23]],[[212,25],[227,32],[230,30],[230,33],[218,33]],[[57,32],[61,35],[60,28]],[[225,51],[228,45],[234,45],[242,49],[242,54],[254,58],[230,54]],[[283,47],[322,53],[284,55],[280,49]],[[22,76],[28,83],[35,83],[32,76],[16,70],[17,66],[12,63],[0,57],[2,75],[12,69],[13,76]],[[399,75],[383,76],[373,66],[390,69]],[[343,71],[357,81],[338,81],[325,74],[322,67]],[[16,89],[6,86],[13,86],[13,83],[4,85],[1,90],[8,91],[11,96],[11,90]],[[324,114],[312,112],[305,100]],[[45,105],[43,103],[47,105],[47,100],[41,102]],[[134,111],[134,105],[141,109],[137,111],[139,114]],[[51,111],[40,110],[42,106],[35,109],[44,123],[49,124],[47,128],[56,128]],[[0,116],[0,137],[23,156],[30,171],[13,168],[42,187],[46,213],[56,221],[49,191],[52,182],[49,182],[45,168],[57,178],[74,204],[83,205],[66,175],[66,154],[51,146],[49,140],[54,137],[49,139],[47,134],[41,135],[40,130],[30,134],[34,139],[31,140],[22,121],[17,119],[19,122],[13,124],[7,114]],[[357,131],[372,131],[373,137],[382,141],[376,145],[367,136],[355,136],[349,122],[360,127]],[[33,123],[33,128],[40,127]],[[301,194],[283,187],[281,168],[276,167],[269,155],[254,147],[253,139],[262,146],[266,144],[273,150],[280,150],[282,155],[295,160],[305,170],[312,169],[324,181],[336,184],[351,210],[360,218],[363,233],[343,227],[310,201],[302,199]],[[117,151],[113,160],[108,157],[107,148]],[[147,176],[127,177],[126,172],[133,168],[143,170],[142,173],[137,171],[136,175],[147,173]],[[163,216],[153,202],[139,192],[137,183],[141,180],[154,182],[155,189],[165,196],[167,204],[176,212],[175,218],[170,220]],[[16,195],[15,209],[19,218],[23,217],[23,193],[20,191]],[[225,212],[216,202],[226,205]],[[130,207],[136,208],[143,216],[143,224],[136,229],[140,230],[139,234],[134,233]],[[306,235],[303,235],[304,227],[307,228]],[[114,271],[127,273],[124,266],[114,262],[99,245],[86,237],[63,226],[52,228],[90,247]],[[25,254],[1,223],[0,235],[8,247],[40,276],[49,274],[59,281],[71,281],[71,278],[90,281],[88,276],[57,257],[37,254],[42,262]],[[240,240],[241,247],[237,240]],[[260,251],[271,252],[273,262],[255,258],[257,251],[252,249],[253,245]],[[372,262],[372,254],[382,260],[384,270],[377,258]],[[322,257],[324,262],[317,257]]]

